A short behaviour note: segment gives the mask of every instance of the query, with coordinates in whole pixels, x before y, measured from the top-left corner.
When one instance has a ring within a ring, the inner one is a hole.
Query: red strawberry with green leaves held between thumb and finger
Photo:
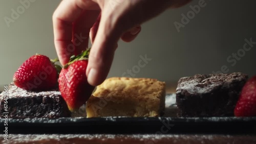
[[[59,90],[70,111],[77,110],[85,104],[94,90],[86,76],[88,55],[89,50],[72,56],[59,74]]]

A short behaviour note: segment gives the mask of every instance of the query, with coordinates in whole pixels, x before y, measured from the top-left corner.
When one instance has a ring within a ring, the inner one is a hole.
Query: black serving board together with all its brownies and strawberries
[[[94,89],[83,68],[74,70],[78,62],[87,66],[86,55],[60,71],[42,55],[27,60],[0,94],[1,125],[8,123],[12,134],[256,133],[255,77],[184,77],[176,93],[156,79],[114,77]]]

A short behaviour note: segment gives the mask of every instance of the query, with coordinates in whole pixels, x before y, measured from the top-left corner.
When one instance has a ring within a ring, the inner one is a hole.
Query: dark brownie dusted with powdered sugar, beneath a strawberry
[[[8,110],[4,108],[4,94],[0,94],[0,117],[4,112],[8,118],[69,117],[68,106],[58,90],[27,91],[14,84],[8,87]]]

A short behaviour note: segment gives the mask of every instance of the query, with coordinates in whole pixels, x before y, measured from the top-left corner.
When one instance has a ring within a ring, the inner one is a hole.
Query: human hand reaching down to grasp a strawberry
[[[60,63],[93,43],[87,67],[88,82],[101,84],[108,76],[117,42],[132,41],[140,24],[167,8],[190,0],[63,0],[53,14],[54,43]]]

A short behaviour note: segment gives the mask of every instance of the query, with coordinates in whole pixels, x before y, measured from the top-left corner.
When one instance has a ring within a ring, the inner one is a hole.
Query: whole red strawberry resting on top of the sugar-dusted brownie
[[[51,60],[44,55],[34,55],[26,60],[13,76],[17,87],[26,90],[56,88],[58,73]]]

